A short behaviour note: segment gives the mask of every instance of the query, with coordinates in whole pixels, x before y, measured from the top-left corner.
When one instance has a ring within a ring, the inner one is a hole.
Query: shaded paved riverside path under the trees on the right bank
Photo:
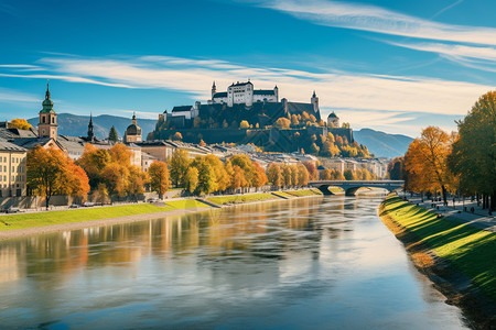
[[[400,197],[403,197],[402,194],[399,194]],[[455,201],[453,207],[453,200],[448,202],[448,207],[443,206],[442,201],[434,202],[434,208],[432,208],[432,201],[430,199],[422,200],[420,197],[409,197],[407,194],[408,201],[412,204],[418,204],[419,206],[423,207],[424,209],[431,210],[433,212],[436,212],[445,218],[450,218],[451,220],[459,221],[462,223],[468,223],[475,228],[487,230],[490,232],[496,232],[496,219],[494,216],[488,216],[488,210],[483,210],[482,207],[477,206],[477,202],[471,202],[470,200],[463,201]],[[467,211],[463,210],[463,207],[466,207]],[[439,207],[439,209],[438,209]],[[474,213],[470,212],[471,208],[474,208]]]

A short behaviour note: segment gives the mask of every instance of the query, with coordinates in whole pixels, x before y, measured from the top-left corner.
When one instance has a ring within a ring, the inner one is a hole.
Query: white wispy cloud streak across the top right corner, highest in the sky
[[[263,0],[259,1],[258,6],[321,25],[416,38],[496,45],[496,29],[493,28],[443,24],[364,3]]]

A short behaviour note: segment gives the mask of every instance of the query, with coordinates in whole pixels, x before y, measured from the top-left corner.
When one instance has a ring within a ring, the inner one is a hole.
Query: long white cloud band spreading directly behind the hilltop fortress
[[[75,58],[39,62],[52,74],[0,74],[15,78],[50,78],[118,88],[176,90],[192,101],[209,99],[212,80],[219,89],[248,77],[256,88],[273,88],[292,101],[310,101],[312,90],[322,107],[375,111],[466,114],[490,86],[425,77],[248,67],[215,59],[177,57]],[[55,74],[53,74],[55,73]],[[170,108],[176,105],[161,105]]]

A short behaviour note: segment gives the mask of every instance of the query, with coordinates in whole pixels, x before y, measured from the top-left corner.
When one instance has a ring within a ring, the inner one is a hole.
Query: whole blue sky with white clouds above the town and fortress
[[[496,1],[0,2],[0,120],[58,113],[157,119],[248,78],[352,128],[455,129],[496,89]]]

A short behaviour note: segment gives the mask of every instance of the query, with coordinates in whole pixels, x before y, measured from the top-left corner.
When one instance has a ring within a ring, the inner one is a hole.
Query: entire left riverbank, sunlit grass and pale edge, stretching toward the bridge
[[[294,190],[301,197],[317,196],[315,189]],[[293,190],[289,190],[293,191]],[[306,193],[304,193],[306,191]],[[270,198],[269,198],[270,197]],[[88,227],[151,220],[171,216],[212,210],[211,199],[220,198],[217,207],[244,205],[261,201],[283,200],[271,194],[230,195],[205,198],[205,202],[195,199],[168,200],[159,204],[138,204],[126,206],[105,206],[63,211],[9,215],[0,217],[0,241],[33,234],[76,230]],[[84,220],[82,220],[84,219]]]

